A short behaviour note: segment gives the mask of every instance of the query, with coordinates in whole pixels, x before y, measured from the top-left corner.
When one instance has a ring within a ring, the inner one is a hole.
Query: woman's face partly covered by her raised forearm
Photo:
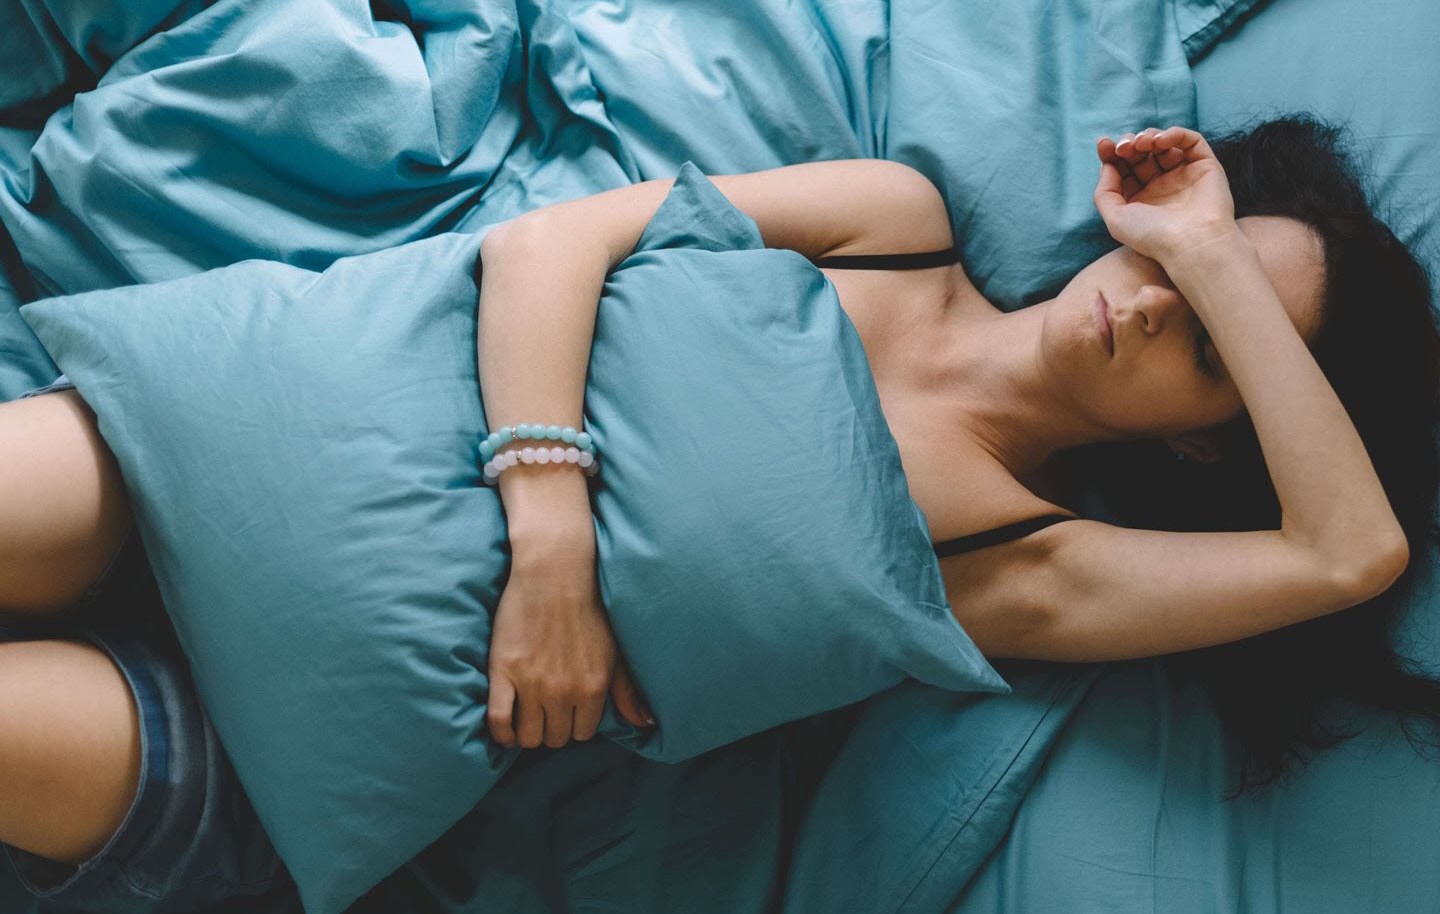
[[[1247,216],[1238,225],[1309,341],[1325,279],[1319,235],[1283,216]],[[1113,356],[1097,324],[1097,294],[1109,304]],[[1172,438],[1221,425],[1244,409],[1189,302],[1156,261],[1130,248],[1080,271],[1057,297],[1041,334],[1047,361],[1061,373],[1076,406],[1117,438]]]

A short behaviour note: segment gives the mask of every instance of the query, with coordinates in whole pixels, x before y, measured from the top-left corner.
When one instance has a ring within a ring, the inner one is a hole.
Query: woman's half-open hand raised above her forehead
[[[1100,137],[1094,207],[1115,240],[1156,262],[1231,237],[1236,202],[1205,138],[1184,127]]]

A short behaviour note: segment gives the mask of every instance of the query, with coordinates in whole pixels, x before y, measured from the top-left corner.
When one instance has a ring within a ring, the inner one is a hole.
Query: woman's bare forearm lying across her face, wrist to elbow
[[[1394,564],[1404,533],[1359,433],[1240,232],[1162,263],[1244,399],[1282,533],[1336,569]]]

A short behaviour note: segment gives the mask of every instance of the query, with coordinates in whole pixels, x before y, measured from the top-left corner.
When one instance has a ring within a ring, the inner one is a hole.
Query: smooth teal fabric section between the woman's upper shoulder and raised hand
[[[1192,124],[1175,20],[1153,0],[894,0],[883,157],[945,194],[975,288],[1014,311],[1115,249],[1099,137]]]

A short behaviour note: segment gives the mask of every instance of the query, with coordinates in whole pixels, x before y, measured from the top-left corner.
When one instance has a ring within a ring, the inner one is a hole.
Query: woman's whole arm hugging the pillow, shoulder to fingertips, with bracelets
[[[769,248],[819,258],[953,243],[939,191],[900,163],[840,160],[710,180],[755,220]],[[485,236],[477,358],[491,429],[521,422],[582,427],[605,278],[634,252],[672,183],[557,203]],[[602,674],[615,649],[595,582],[585,476],[569,463],[530,463],[503,472],[498,487],[511,576],[491,641],[491,733],[527,748],[540,743],[541,730],[550,747],[572,734],[586,740],[599,725],[609,684]],[[632,687],[618,669],[616,707],[638,724]]]

